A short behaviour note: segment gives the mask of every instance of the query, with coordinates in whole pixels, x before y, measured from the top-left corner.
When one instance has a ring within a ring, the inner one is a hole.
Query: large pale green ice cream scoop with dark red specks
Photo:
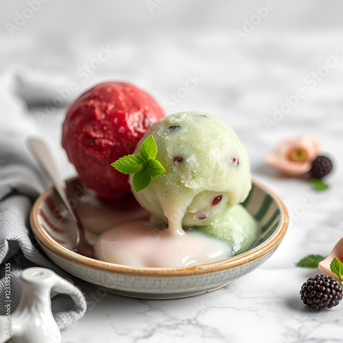
[[[202,112],[170,115],[154,123],[134,154],[150,135],[156,141],[156,159],[165,173],[134,196],[159,219],[167,222],[165,210],[171,208],[172,213],[183,218],[182,225],[210,224],[227,206],[243,202],[248,196],[248,154],[237,134],[221,119]],[[175,161],[176,156],[182,161]],[[216,196],[222,196],[222,201],[211,206]],[[206,213],[204,220],[196,219],[198,211]]]

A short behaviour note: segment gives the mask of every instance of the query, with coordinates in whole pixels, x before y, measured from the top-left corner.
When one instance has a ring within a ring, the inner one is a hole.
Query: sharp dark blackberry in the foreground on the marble
[[[342,286],[331,276],[318,274],[301,286],[300,298],[311,309],[331,309],[342,300]]]

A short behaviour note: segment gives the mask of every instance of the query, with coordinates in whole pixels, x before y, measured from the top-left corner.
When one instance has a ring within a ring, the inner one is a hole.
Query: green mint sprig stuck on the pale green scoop
[[[111,163],[117,171],[123,174],[134,174],[132,186],[136,192],[145,189],[152,182],[152,178],[165,172],[161,163],[156,160],[157,145],[154,137],[149,136],[143,141],[139,148],[139,155],[126,155]]]

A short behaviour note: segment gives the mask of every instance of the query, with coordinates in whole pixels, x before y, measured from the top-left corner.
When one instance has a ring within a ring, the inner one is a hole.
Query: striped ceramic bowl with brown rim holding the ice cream
[[[75,180],[78,181],[73,179],[73,182]],[[84,213],[91,213],[93,206],[95,210],[104,210],[92,193],[84,198],[74,198],[77,206],[88,206]],[[287,230],[288,215],[278,196],[253,181],[244,206],[261,226],[261,236],[255,247],[230,259],[185,268],[136,268],[90,259],[71,251],[73,235],[70,226],[73,224],[63,214],[63,206],[53,188],[47,189],[36,200],[30,222],[32,232],[47,256],[70,274],[123,296],[181,298],[223,287],[252,272],[279,246]],[[88,220],[100,222],[108,214],[102,211],[95,211],[93,218]],[[87,220],[81,219],[86,226]]]

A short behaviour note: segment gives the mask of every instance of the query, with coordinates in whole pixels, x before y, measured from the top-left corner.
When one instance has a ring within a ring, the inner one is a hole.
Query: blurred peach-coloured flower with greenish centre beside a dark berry
[[[300,176],[311,170],[312,162],[320,154],[316,137],[303,134],[296,139],[281,141],[265,163],[272,165],[289,176]]]

